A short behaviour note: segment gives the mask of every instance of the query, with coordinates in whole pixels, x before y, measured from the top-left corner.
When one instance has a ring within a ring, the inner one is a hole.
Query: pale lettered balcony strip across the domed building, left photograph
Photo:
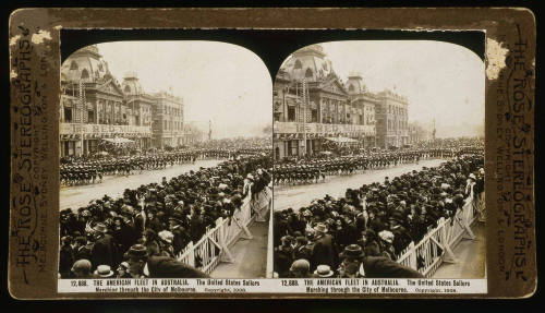
[[[109,137],[114,135],[149,137],[152,136],[152,127],[60,123],[59,134],[83,135],[84,137]]]

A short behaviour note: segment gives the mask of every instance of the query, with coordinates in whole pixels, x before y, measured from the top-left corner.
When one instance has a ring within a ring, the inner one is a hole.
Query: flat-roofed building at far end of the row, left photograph
[[[156,147],[177,147],[184,144],[183,100],[172,91],[154,94],[153,140]]]

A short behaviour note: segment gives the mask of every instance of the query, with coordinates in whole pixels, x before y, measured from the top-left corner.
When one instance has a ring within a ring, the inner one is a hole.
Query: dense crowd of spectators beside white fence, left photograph
[[[246,196],[265,189],[270,165],[270,155],[239,156],[169,181],[164,178],[161,183],[126,189],[119,198],[105,195],[62,210],[60,277],[106,277],[100,273],[114,273],[114,268],[117,277],[129,277],[131,253],[142,254],[141,246],[146,257],[175,260],[219,217],[231,218]],[[199,267],[198,260],[195,266]]]

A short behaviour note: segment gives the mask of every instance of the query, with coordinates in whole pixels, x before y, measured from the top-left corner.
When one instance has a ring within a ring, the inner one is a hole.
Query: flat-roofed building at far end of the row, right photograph
[[[402,147],[409,144],[407,97],[384,91],[377,94],[376,115],[377,146],[383,148]]]

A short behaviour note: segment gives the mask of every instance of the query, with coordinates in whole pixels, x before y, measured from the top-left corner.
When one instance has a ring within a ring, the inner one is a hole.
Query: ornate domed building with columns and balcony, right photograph
[[[365,137],[374,136],[374,125],[359,120],[358,108],[365,105],[352,104],[325,57],[320,45],[307,46],[290,56],[277,74],[272,92],[276,158],[313,155],[325,141],[363,147]]]

